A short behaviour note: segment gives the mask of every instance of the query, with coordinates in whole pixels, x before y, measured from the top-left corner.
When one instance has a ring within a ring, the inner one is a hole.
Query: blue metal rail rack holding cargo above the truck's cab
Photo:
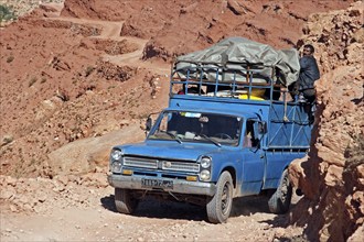
[[[175,62],[171,67],[170,95],[277,100],[283,86],[276,68],[263,72],[263,64]]]

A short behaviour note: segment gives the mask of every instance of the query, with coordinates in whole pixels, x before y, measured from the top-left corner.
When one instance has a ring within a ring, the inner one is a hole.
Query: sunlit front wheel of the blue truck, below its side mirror
[[[214,197],[206,205],[210,222],[226,222],[233,207],[233,189],[232,175],[225,170],[218,178]]]

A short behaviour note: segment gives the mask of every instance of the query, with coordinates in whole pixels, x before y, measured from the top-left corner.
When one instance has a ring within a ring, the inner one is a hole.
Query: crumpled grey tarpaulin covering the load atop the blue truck
[[[211,68],[224,68],[224,73],[218,73],[220,80],[235,78],[238,81],[245,80],[247,66],[258,73],[253,81],[260,82],[272,78],[276,82],[289,86],[297,80],[300,72],[299,53],[295,48],[278,51],[244,37],[229,37],[205,50],[179,56],[175,69],[179,75],[185,76],[186,69],[203,68],[207,70],[205,78],[215,80],[216,73]],[[229,69],[237,69],[242,75],[236,76],[229,73]],[[275,76],[272,76],[274,69]]]

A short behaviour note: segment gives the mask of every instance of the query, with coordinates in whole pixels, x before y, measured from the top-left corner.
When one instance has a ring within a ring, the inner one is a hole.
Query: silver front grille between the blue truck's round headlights
[[[176,162],[165,160],[153,160],[153,158],[140,158],[140,157],[124,157],[124,165],[139,168],[150,169],[163,169],[163,170],[176,170],[197,173],[200,172],[200,164],[190,162]]]

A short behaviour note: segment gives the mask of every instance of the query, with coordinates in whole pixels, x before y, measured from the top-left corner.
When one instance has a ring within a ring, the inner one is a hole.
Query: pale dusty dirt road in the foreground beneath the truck
[[[211,224],[197,206],[148,199],[127,216],[116,211],[109,186],[58,189],[61,183],[43,180],[54,187],[41,186],[53,195],[41,198],[34,196],[39,187],[28,182],[2,183],[6,190],[28,187],[28,193],[1,200],[1,241],[287,241],[301,234],[300,228],[286,228],[288,215],[269,213],[264,197],[234,200],[227,223]],[[11,201],[17,209],[7,209]]]

